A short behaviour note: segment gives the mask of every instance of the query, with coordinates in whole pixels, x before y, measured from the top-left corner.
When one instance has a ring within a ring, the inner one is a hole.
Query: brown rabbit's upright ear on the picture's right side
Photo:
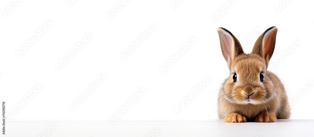
[[[256,40],[252,53],[260,55],[268,65],[270,58],[273,55],[276,43],[277,28],[270,27]]]

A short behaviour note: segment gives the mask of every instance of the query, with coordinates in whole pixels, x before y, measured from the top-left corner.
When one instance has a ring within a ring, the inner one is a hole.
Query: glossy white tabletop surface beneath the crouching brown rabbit
[[[9,122],[8,137],[301,137],[313,136],[314,120],[279,119],[275,123],[206,122]]]

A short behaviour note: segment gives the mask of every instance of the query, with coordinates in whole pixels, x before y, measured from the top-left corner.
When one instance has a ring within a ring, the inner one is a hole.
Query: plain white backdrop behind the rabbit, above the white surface
[[[278,33],[270,66],[285,85],[289,101],[296,99],[291,119],[313,119],[314,88],[307,87],[314,79],[312,1],[186,0],[173,8],[175,0],[127,0],[109,19],[121,2],[77,0],[69,5],[67,0],[32,0],[12,10],[7,5],[14,2],[0,2],[0,101],[6,101],[8,121],[110,121],[125,104],[130,107],[117,121],[218,119],[218,90],[229,70],[217,29],[230,30],[249,53],[257,37],[272,26]],[[51,26],[37,37],[46,21]],[[157,27],[143,40],[140,36],[151,24]],[[75,45],[86,34],[93,37],[77,50]],[[32,37],[35,42],[18,55]],[[182,54],[180,47],[190,37],[196,42]],[[121,54],[136,40],[140,45],[122,60]],[[300,45],[293,47],[295,41]],[[58,69],[72,50],[76,54]],[[163,73],[160,67],[177,53],[180,57]],[[89,85],[100,74],[107,78],[91,91]],[[193,92],[207,77],[210,83],[198,94]],[[24,96],[35,84],[42,88],[28,101]],[[132,104],[129,98],[140,87],[147,91]],[[301,93],[304,88],[307,92]],[[90,94],[72,110],[70,105],[86,90]],[[176,113],[175,107],[191,93],[194,98]]]

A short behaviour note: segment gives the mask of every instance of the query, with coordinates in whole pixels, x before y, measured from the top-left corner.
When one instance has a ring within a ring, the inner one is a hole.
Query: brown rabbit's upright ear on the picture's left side
[[[219,28],[218,30],[220,47],[225,60],[230,67],[232,59],[243,54],[243,49],[239,40],[227,29]]]

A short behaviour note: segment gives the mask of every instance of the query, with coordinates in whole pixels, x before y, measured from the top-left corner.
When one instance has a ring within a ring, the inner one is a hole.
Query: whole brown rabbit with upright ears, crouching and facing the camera
[[[276,122],[289,119],[290,106],[279,78],[267,71],[277,28],[270,27],[256,40],[252,53],[243,52],[239,40],[218,29],[222,54],[230,69],[218,97],[219,119],[224,122]]]

